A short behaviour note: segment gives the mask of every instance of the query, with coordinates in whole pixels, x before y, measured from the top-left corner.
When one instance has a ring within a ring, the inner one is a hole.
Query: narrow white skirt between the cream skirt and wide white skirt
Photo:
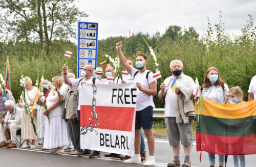
[[[44,115],[45,108],[40,106],[36,116],[36,131],[38,138],[44,138],[47,117]]]

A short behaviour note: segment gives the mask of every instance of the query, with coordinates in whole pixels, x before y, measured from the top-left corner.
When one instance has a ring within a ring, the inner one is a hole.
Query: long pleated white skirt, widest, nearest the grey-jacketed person
[[[48,119],[45,126],[44,149],[53,149],[67,146],[69,144],[67,125],[62,115]]]

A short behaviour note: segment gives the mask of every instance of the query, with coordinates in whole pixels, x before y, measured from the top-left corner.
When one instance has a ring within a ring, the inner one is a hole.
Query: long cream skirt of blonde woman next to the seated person
[[[22,108],[21,115],[22,115],[22,138],[36,140],[37,137],[35,135],[33,125],[31,123],[29,112],[27,112],[26,114],[25,109]],[[33,122],[36,126],[36,118],[33,119]]]

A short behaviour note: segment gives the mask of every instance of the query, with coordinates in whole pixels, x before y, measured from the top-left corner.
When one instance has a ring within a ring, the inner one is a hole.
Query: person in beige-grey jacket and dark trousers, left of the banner
[[[75,79],[75,74],[68,73],[69,80]],[[65,90],[62,101],[62,119],[68,121],[69,136],[74,146],[73,151],[69,152],[71,155],[78,155],[82,152],[80,149],[80,126],[77,121],[77,107],[78,107],[78,88],[68,86]]]

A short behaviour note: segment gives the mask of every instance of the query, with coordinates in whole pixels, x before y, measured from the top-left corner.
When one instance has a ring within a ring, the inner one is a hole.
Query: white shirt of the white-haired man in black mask
[[[166,79],[164,79],[163,83],[166,86],[165,91],[169,87],[169,89],[167,90],[167,94],[165,96],[164,117],[176,117],[175,107],[178,95],[175,92],[173,93],[172,88],[170,87],[173,83],[173,76],[169,76]],[[177,87],[182,86],[191,88],[193,90],[195,89],[194,80],[190,76],[184,75],[183,73],[181,74],[181,77],[176,79],[176,85]]]

